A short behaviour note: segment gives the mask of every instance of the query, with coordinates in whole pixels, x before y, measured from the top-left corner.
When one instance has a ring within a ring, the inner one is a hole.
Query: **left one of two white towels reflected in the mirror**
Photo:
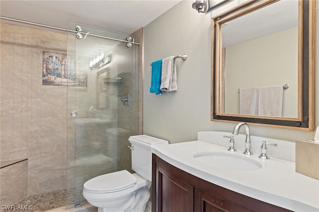
[[[239,113],[258,114],[259,87],[239,89]]]

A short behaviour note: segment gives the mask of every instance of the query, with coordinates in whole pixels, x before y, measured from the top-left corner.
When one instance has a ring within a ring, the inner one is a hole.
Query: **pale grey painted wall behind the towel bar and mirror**
[[[230,132],[236,125],[210,120],[210,40],[211,17],[238,4],[239,1],[232,0],[207,14],[197,13],[191,8],[191,2],[181,1],[145,27],[144,134],[167,139],[169,143],[196,140],[198,131]],[[316,11],[319,22],[319,10]],[[318,28],[316,29],[317,55],[319,54]],[[177,92],[160,96],[151,94],[150,63],[184,53],[188,55],[186,61],[176,60]],[[318,59],[316,63],[318,76]],[[318,85],[318,77],[316,84]],[[316,91],[318,105],[318,86]],[[319,107],[316,108],[317,126]],[[251,126],[251,133],[289,141],[313,138],[315,135],[315,132],[263,126]]]

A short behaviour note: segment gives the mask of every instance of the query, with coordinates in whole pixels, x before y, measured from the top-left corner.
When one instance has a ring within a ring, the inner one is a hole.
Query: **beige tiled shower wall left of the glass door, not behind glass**
[[[67,35],[0,23],[0,161],[28,159],[27,195],[66,187],[67,88],[42,85],[42,51]]]

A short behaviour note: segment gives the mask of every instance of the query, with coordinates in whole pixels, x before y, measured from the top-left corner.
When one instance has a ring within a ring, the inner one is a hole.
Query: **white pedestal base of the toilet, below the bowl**
[[[135,191],[131,199],[121,207],[98,208],[98,212],[145,212],[150,196],[150,190],[147,187],[143,187]]]

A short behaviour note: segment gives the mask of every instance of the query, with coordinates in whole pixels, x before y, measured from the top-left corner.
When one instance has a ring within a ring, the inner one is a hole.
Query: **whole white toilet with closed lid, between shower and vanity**
[[[127,170],[101,175],[84,183],[83,197],[98,212],[144,212],[150,199],[152,146],[167,141],[148,135],[129,138],[132,149],[131,174]]]

